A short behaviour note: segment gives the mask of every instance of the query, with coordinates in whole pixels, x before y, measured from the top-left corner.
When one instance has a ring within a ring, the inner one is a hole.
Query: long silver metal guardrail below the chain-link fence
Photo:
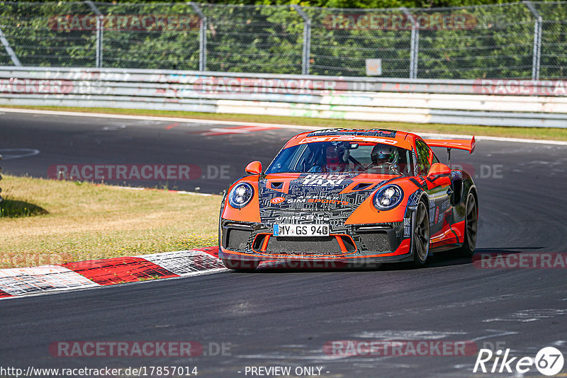
[[[567,127],[567,81],[0,67],[0,104]]]

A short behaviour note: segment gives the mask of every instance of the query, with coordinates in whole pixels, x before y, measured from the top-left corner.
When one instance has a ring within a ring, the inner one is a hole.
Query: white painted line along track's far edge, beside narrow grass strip
[[[237,121],[220,121],[220,120],[200,120],[192,118],[176,118],[176,117],[149,117],[145,115],[122,115],[122,114],[104,114],[104,113],[78,113],[78,112],[57,112],[54,110],[33,110],[33,109],[15,109],[15,108],[2,108],[6,112],[12,113],[28,113],[28,114],[43,114],[43,115],[70,115],[74,117],[93,117],[93,118],[117,118],[121,120],[143,120],[143,121],[163,121],[163,122],[186,122],[186,123],[200,123],[209,125],[237,125],[237,126],[259,126],[259,127],[275,127],[278,129],[298,129],[298,130],[321,130],[325,127],[315,126],[299,126],[299,125],[280,125],[274,123],[257,123],[257,122],[237,122]],[[345,124],[349,120],[344,120]],[[427,125],[427,124],[423,124]],[[348,126],[348,125],[345,125]],[[431,132],[416,132],[420,137],[434,137],[434,138],[456,138],[456,139],[470,139],[471,135],[461,134],[435,134]],[[517,142],[517,143],[535,143],[535,144],[556,144],[558,146],[567,146],[566,141],[561,140],[546,140],[546,139],[522,139],[522,138],[505,138],[505,137],[488,137],[479,135],[475,136],[476,140],[490,140],[494,142]]]

